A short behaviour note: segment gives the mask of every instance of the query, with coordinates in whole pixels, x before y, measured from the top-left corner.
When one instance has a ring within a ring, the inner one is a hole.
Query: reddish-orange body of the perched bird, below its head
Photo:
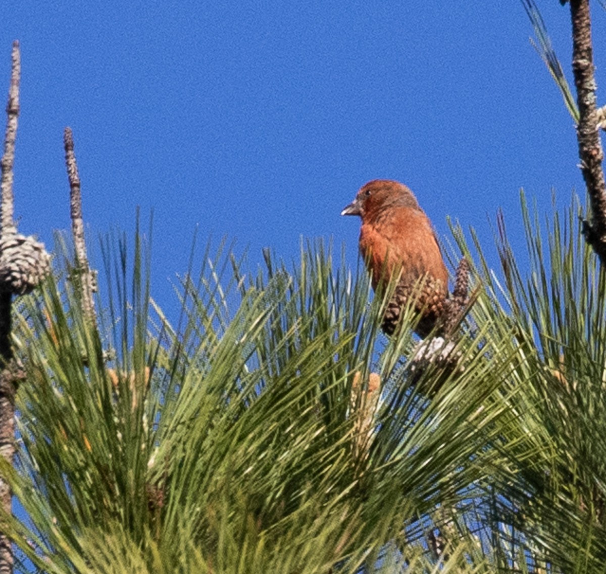
[[[414,284],[422,275],[441,282],[444,294],[448,272],[431,223],[421,209],[391,207],[362,222],[360,251],[368,262],[373,288],[401,268],[404,282]]]

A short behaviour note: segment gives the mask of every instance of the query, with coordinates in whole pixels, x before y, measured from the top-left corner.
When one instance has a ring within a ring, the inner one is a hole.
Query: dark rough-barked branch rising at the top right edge
[[[579,123],[577,139],[581,171],[591,202],[591,222],[583,222],[585,240],[606,265],[606,182],[602,160],[604,151],[598,130],[596,112],[596,81],[591,45],[589,0],[570,0],[572,20],[572,69],[576,86]]]

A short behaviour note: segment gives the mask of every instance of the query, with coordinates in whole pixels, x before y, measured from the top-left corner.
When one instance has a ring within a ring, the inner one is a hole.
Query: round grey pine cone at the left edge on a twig
[[[0,290],[15,295],[32,291],[50,273],[44,243],[12,233],[0,238]]]

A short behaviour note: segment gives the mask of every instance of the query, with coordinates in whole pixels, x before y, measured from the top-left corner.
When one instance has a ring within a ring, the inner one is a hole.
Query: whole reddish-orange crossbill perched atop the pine
[[[448,271],[431,222],[415,194],[402,183],[376,179],[362,186],[341,215],[362,219],[359,247],[373,289],[387,285],[393,274],[399,274],[385,309],[384,332],[393,334],[402,307],[415,295],[415,309],[420,315],[415,332],[427,337],[440,325],[447,307]]]

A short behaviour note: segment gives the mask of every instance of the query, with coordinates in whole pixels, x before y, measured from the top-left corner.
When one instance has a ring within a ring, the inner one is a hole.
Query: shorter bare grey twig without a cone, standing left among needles
[[[76,285],[81,289],[82,311],[88,320],[95,322],[95,302],[93,292],[96,291],[95,272],[88,266],[86,244],[84,242],[84,222],[82,220],[82,193],[78,164],[74,154],[74,140],[71,128],[65,128],[63,142],[65,147],[65,167],[70,182],[70,215],[72,217],[72,234],[76,251]]]

